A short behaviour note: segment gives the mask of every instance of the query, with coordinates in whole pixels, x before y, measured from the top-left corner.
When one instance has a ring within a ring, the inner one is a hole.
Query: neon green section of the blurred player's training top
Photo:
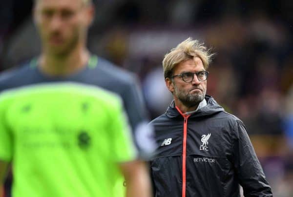
[[[117,163],[135,158],[112,93],[50,82],[0,94],[0,160],[12,162],[13,197],[119,197]]]

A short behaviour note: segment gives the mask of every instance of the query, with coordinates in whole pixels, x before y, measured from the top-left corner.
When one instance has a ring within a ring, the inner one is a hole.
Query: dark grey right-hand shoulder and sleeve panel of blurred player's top
[[[136,76],[109,61],[98,58],[97,66],[89,69],[83,81],[118,93],[124,101],[130,121],[145,119],[146,110]],[[134,122],[131,122],[133,125]]]

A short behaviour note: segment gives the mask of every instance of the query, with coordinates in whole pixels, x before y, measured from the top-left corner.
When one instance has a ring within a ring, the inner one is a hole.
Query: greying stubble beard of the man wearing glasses
[[[203,93],[193,93],[190,94],[187,91],[179,90],[178,87],[174,84],[174,96],[176,96],[182,104],[187,107],[193,107],[198,105],[206,96],[207,89],[203,90]]]

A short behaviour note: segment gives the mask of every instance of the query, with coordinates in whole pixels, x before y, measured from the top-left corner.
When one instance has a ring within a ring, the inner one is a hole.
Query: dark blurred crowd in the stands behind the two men
[[[94,3],[88,47],[137,74],[150,118],[172,99],[161,63],[167,51],[188,37],[211,47],[207,94],[246,124],[274,196],[293,196],[293,1]],[[32,5],[0,1],[0,71],[40,52]]]

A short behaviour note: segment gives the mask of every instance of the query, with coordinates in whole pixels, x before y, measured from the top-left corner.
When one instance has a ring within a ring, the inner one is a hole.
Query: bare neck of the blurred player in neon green
[[[39,59],[39,66],[46,75],[64,77],[83,69],[88,59],[89,53],[85,49],[75,50],[64,56],[43,53]]]

